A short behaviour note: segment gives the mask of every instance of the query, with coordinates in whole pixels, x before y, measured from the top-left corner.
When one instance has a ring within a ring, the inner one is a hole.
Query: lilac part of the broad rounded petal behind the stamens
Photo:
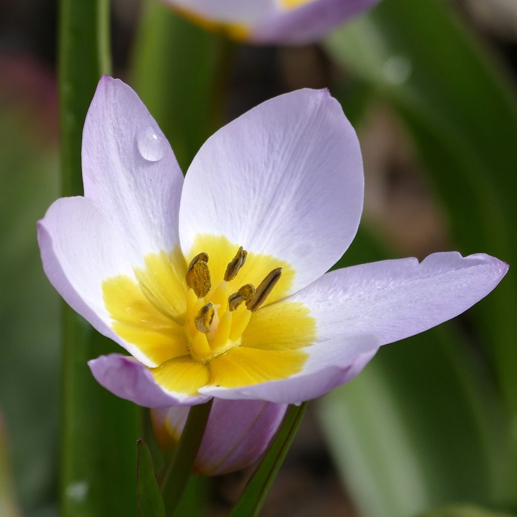
[[[291,264],[293,293],[344,253],[362,197],[359,143],[341,106],[326,90],[297,90],[240,116],[197,153],[181,195],[181,249],[189,257],[200,235],[224,235]]]

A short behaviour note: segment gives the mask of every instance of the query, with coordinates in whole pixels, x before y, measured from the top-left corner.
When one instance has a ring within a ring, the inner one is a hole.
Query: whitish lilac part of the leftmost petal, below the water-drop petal
[[[58,199],[38,222],[38,243],[45,274],[68,305],[101,334],[154,366],[110,327],[102,281],[117,275],[134,279],[134,273],[124,244],[104,210],[85,197]]]

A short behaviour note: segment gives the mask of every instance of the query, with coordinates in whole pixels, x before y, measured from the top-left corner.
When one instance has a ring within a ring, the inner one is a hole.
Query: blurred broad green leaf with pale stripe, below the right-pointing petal
[[[387,256],[362,226],[340,265]],[[508,442],[499,403],[457,323],[382,347],[318,403],[332,456],[364,515],[408,517],[500,497]]]

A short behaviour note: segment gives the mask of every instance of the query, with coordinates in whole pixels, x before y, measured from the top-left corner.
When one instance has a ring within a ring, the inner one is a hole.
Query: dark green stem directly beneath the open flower
[[[199,450],[203,434],[205,433],[212,402],[213,399],[206,404],[200,404],[190,408],[189,416],[185,423],[183,433],[181,433],[178,447],[163,476],[161,492],[168,516],[174,515],[181,495],[187,486],[197,451]]]

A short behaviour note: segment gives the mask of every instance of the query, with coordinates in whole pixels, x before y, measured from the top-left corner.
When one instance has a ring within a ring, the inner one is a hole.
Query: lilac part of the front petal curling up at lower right
[[[218,399],[258,399],[278,404],[299,404],[322,397],[330,390],[351,381],[378,349],[374,336],[341,336],[339,339],[302,348],[308,359],[301,372],[280,381],[237,388],[207,385],[200,392]],[[238,351],[235,348],[234,351]],[[255,350],[248,348],[249,350]],[[263,351],[255,350],[257,353]],[[300,351],[284,351],[283,354]],[[272,353],[274,360],[274,353]],[[240,364],[245,369],[246,364]]]

